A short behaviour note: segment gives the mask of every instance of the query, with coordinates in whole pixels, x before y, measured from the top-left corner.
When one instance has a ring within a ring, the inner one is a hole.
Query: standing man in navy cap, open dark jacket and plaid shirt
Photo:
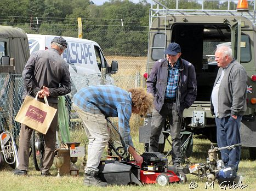
[[[194,66],[180,58],[181,49],[177,43],[170,43],[164,52],[166,58],[158,60],[146,81],[147,92],[154,96],[149,152],[158,152],[158,141],[166,118],[170,123],[172,137],[172,163],[181,161],[181,120],[183,110],[196,99],[197,85]],[[163,148],[162,151],[163,152]]]

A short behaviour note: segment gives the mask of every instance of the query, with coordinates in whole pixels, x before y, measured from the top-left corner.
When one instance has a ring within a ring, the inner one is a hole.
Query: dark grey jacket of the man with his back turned
[[[69,64],[55,49],[39,50],[33,53],[22,72],[26,95],[36,97],[43,86],[49,88],[49,103],[58,103],[58,96],[71,92]],[[43,99],[39,99],[43,100]]]

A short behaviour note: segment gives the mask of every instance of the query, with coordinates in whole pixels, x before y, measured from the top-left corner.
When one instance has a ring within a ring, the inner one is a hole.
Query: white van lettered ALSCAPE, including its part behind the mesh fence
[[[56,36],[27,34],[30,53],[48,49],[54,37]],[[78,118],[71,106],[73,95],[79,89],[89,85],[113,85],[111,74],[117,73],[118,63],[112,61],[111,67],[109,67],[99,44],[95,41],[73,37],[63,38],[67,41],[67,49],[61,56],[69,64],[71,77],[71,93],[65,96],[69,122],[71,122],[72,118]],[[70,126],[72,126],[71,123]]]

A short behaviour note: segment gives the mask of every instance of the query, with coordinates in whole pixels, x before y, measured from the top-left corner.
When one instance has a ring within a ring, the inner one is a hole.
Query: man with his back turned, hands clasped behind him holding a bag
[[[69,64],[61,58],[67,48],[66,40],[55,37],[50,49],[39,50],[32,53],[22,72],[25,91],[22,99],[27,95],[36,97],[44,102],[46,96],[48,103],[58,109],[58,96],[64,96],[71,91]],[[41,164],[41,175],[49,176],[49,169],[53,164],[56,128],[58,125],[58,111],[56,112],[48,132],[44,136],[44,156]],[[26,175],[29,169],[30,138],[33,129],[21,124],[19,139],[19,166],[14,171],[15,175]]]

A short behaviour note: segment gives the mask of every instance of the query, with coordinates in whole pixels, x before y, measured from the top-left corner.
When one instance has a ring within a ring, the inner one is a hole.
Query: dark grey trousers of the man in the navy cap
[[[153,109],[151,134],[149,142],[149,152],[158,152],[158,141],[164,126],[166,118],[169,118],[170,136],[172,137],[172,162],[173,164],[180,164],[180,130],[181,123],[176,112],[175,103],[166,103],[163,105],[160,113]]]

